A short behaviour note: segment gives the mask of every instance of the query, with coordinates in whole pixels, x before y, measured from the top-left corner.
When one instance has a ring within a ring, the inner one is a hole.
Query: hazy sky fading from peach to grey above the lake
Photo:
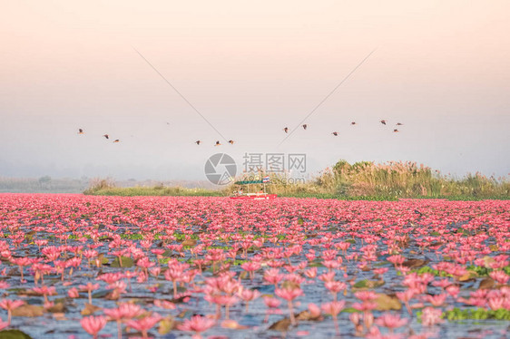
[[[218,151],[239,162],[244,152],[307,153],[310,173],[339,159],[510,171],[508,1],[2,0],[1,8],[3,176],[205,179],[205,160]],[[293,129],[375,48],[309,129],[278,147],[283,127]],[[404,126],[393,133],[397,121]]]

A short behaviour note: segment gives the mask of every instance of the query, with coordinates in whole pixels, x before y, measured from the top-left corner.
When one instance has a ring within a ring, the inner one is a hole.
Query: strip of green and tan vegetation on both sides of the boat
[[[269,193],[279,197],[319,199],[510,199],[510,181],[486,177],[480,173],[456,179],[416,162],[389,161],[376,164],[360,161],[349,164],[339,160],[314,179],[289,183],[285,175],[270,173]],[[244,179],[244,178],[237,178]],[[236,180],[237,180],[236,179]],[[235,181],[235,180],[233,180]],[[111,179],[95,179],[83,193],[99,196],[210,196],[227,197],[236,189],[233,183],[220,189],[185,189],[181,187],[115,186]]]

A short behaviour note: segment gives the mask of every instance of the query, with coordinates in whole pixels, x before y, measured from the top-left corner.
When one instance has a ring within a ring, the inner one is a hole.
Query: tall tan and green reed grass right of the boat
[[[510,199],[508,179],[481,173],[455,179],[411,161],[360,161],[351,165],[339,160],[306,182],[288,183],[285,174],[274,173],[270,174],[270,181],[269,192],[284,197]]]

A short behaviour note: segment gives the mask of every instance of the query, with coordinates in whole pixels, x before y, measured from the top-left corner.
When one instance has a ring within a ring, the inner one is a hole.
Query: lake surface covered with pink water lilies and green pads
[[[509,211],[0,194],[0,338],[503,338]]]

